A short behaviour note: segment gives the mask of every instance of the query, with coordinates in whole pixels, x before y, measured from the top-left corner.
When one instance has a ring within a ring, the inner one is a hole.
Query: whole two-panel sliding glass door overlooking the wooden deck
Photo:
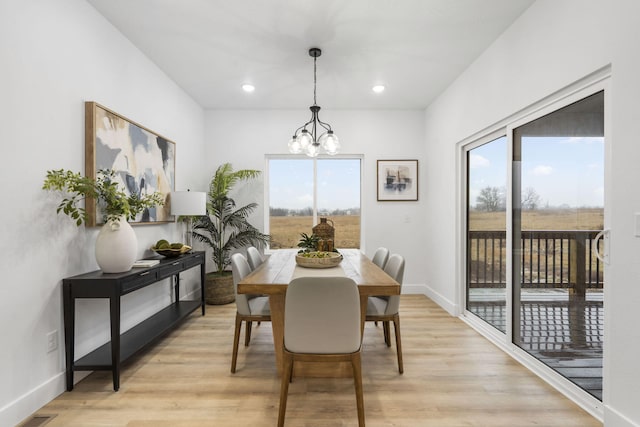
[[[604,92],[466,148],[466,310],[602,400]]]

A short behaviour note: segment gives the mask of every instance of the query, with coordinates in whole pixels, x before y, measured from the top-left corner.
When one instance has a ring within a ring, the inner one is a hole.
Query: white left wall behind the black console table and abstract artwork
[[[9,426],[64,390],[61,280],[97,269],[97,229],[57,216],[59,200],[41,190],[48,169],[84,172],[84,102],[175,141],[177,189],[207,175],[202,109],[84,0],[2,0],[0,58],[0,425]],[[178,235],[174,225],[134,229],[141,256],[158,236]],[[168,301],[168,283],[125,298],[123,327]],[[79,353],[107,341],[106,314],[106,303],[78,304]],[[54,330],[59,346],[47,353]]]

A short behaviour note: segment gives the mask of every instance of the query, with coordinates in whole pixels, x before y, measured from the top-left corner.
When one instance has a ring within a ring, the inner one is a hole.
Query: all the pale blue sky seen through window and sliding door
[[[317,160],[318,208],[360,206],[360,159]],[[470,200],[475,205],[482,188],[506,188],[507,138],[470,152]],[[604,206],[604,138],[524,137],[522,189],[533,188],[541,206]],[[270,207],[313,207],[314,159],[269,161]]]

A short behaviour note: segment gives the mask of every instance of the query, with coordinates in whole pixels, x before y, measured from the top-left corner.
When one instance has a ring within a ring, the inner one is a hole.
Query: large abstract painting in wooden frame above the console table
[[[145,209],[131,224],[173,221],[169,195],[175,189],[176,144],[96,102],[85,102],[85,174],[113,169],[127,195],[159,192],[164,206]],[[86,201],[88,226],[103,224],[95,200]]]

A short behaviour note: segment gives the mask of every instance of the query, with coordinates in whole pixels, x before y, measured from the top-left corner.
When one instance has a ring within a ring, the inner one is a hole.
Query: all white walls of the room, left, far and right
[[[426,283],[430,295],[456,313],[456,143],[612,64],[607,427],[640,425],[640,332],[634,328],[640,241],[633,236],[632,215],[640,211],[640,195],[628,191],[629,183],[640,182],[638,16],[635,0],[538,0],[425,114],[323,114],[345,153],[365,154],[365,252],[385,245],[404,253],[405,283]],[[204,115],[83,0],[2,0],[0,58],[0,236],[5,249],[14,248],[0,258],[0,425],[14,425],[64,390],[61,279],[97,268],[97,230],[77,229],[57,217],[57,200],[40,190],[47,169],[83,170],[84,101],[97,101],[176,141],[177,189],[206,189],[226,161],[264,169],[264,154],[286,153],[290,133],[308,114]],[[419,160],[419,202],[376,201],[376,160],[385,158]],[[256,221],[262,224],[261,212]],[[135,230],[141,248],[160,234],[177,235],[171,225]],[[168,302],[168,286],[161,288],[124,301],[125,327]],[[78,309],[82,353],[107,339],[106,304],[81,303]],[[52,330],[60,346],[47,353],[45,337]]]

